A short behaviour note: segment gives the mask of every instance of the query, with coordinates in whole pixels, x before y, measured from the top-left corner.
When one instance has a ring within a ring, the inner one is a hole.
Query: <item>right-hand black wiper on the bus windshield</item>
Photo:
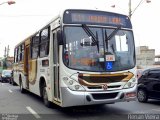
[[[118,32],[119,29],[121,29],[121,26],[118,26],[109,36],[107,36],[107,32],[105,30],[105,42],[107,51],[108,51],[108,41]],[[114,52],[113,45],[112,45],[112,50]]]

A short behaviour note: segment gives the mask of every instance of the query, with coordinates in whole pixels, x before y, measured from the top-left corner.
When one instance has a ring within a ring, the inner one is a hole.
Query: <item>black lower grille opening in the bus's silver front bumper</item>
[[[102,100],[102,99],[113,99],[118,95],[118,92],[115,93],[93,93],[92,97],[95,100]]]

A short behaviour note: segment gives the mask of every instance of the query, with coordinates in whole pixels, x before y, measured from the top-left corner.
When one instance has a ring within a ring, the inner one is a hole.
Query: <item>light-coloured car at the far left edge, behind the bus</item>
[[[2,82],[10,82],[12,79],[12,70],[3,70],[1,75]]]

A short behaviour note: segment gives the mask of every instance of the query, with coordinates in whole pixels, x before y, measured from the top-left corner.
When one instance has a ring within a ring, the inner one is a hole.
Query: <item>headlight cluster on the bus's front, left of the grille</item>
[[[77,81],[74,79],[63,77],[64,83],[68,86],[69,89],[75,91],[85,91],[84,87],[81,86]]]

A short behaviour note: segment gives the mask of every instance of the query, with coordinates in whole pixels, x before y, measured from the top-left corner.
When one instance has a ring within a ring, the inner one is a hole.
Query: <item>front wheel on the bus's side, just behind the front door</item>
[[[44,102],[44,105],[48,108],[51,107],[51,102],[48,101],[48,95],[47,95],[47,90],[46,90],[46,85],[43,86],[43,102]]]

